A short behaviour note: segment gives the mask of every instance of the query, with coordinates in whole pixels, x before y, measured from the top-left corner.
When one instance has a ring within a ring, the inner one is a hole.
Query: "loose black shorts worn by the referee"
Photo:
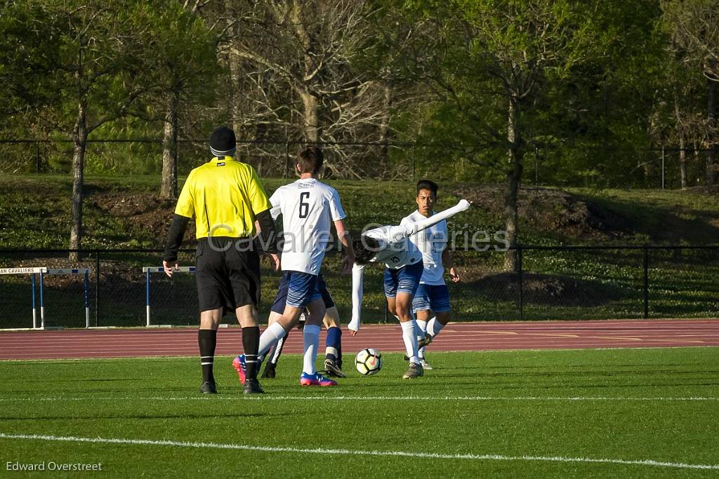
[[[196,263],[200,311],[260,304],[260,256],[249,238],[203,238]]]

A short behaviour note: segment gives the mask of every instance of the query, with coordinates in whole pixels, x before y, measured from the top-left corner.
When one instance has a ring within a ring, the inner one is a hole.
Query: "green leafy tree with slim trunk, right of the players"
[[[436,22],[439,55],[426,71],[444,103],[444,114],[447,108],[453,112],[452,128],[468,139],[469,159],[505,176],[503,219],[508,244],[515,247],[518,190],[536,108],[549,85],[566,81],[572,68],[597,54],[590,6],[551,0],[458,0],[416,2],[416,8]],[[505,269],[517,268],[518,256],[510,250]]]

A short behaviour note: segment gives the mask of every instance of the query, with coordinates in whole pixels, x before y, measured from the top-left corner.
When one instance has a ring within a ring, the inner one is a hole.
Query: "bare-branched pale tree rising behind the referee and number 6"
[[[226,45],[236,92],[235,129],[250,139],[287,132],[324,143],[334,152],[326,157],[326,174],[362,177],[347,147],[334,144],[376,139],[383,123],[385,90],[353,66],[373,38],[367,2],[226,4],[237,18]],[[237,118],[240,95],[245,108]]]

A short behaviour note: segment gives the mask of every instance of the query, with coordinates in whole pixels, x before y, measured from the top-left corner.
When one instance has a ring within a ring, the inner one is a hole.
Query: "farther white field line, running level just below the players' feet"
[[[601,396],[150,396],[1,398],[12,401],[719,401],[719,397],[601,397]]]

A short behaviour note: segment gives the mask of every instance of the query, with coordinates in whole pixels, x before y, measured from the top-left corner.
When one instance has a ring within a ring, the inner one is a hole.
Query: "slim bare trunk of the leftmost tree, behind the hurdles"
[[[78,104],[78,118],[73,131],[73,196],[70,200],[70,249],[80,249],[83,238],[83,185],[85,150],[87,148],[87,108]],[[70,261],[78,261],[77,253],[70,253]]]

